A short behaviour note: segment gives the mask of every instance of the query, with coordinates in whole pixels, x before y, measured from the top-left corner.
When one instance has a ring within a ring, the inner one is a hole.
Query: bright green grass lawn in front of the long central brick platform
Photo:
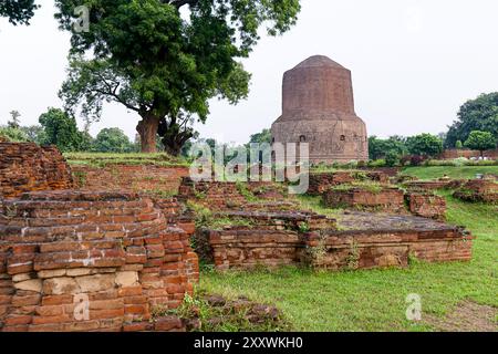
[[[243,294],[273,303],[297,331],[434,331],[437,329],[424,322],[424,314],[443,317],[464,300],[498,306],[497,207],[464,204],[449,192],[444,195],[449,222],[467,226],[477,237],[470,262],[416,262],[408,269],[343,272],[292,267],[253,272],[204,271],[200,287],[227,296]],[[406,320],[405,299],[409,293],[422,296],[421,323]]]

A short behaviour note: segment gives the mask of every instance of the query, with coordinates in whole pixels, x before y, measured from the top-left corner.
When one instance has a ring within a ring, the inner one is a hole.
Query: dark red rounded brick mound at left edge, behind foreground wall
[[[56,147],[0,142],[0,198],[72,187],[71,169]]]

